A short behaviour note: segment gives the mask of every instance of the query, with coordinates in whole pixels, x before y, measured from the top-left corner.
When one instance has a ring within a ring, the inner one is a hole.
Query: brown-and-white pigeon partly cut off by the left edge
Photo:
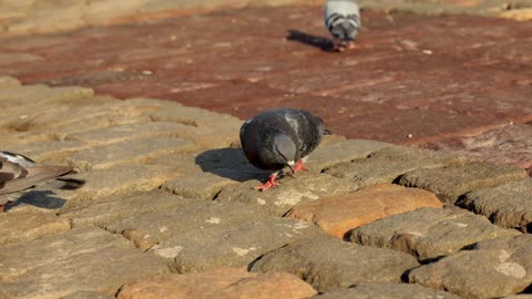
[[[84,184],[81,179],[61,178],[73,173],[75,172],[70,166],[41,165],[27,156],[0,151],[0,213],[7,204],[12,203],[6,195],[31,188],[39,183],[60,179],[64,182],[61,188],[81,187]]]

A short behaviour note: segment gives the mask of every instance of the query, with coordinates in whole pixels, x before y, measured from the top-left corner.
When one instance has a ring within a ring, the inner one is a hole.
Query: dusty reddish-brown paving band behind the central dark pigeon
[[[0,56],[42,60],[3,61],[0,74],[241,118],[303,107],[350,138],[456,151],[468,151],[456,148],[464,135],[532,121],[532,22],[365,11],[362,23],[358,49],[341,54],[324,50],[328,34],[318,7],[21,37],[3,40]],[[532,137],[530,130],[520,134]],[[513,164],[532,162],[530,153],[518,154]]]

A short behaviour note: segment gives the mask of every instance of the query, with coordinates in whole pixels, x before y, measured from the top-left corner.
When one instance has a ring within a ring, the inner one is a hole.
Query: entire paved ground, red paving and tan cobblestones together
[[[337,54],[319,14],[3,39],[2,150],[88,183],[0,215],[0,298],[530,297],[531,23],[366,11]],[[280,105],[338,135],[260,193],[238,128]]]

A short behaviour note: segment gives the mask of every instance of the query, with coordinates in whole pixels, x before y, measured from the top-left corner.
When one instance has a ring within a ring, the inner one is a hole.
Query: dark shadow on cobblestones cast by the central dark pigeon
[[[236,182],[262,179],[270,174],[249,164],[242,148],[234,147],[205,151],[195,157],[195,164],[203,172]]]

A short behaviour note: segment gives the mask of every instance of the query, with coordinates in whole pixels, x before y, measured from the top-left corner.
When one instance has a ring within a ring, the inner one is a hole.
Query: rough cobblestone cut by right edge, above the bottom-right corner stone
[[[466,194],[457,205],[488,217],[495,225],[532,233],[532,178]]]

